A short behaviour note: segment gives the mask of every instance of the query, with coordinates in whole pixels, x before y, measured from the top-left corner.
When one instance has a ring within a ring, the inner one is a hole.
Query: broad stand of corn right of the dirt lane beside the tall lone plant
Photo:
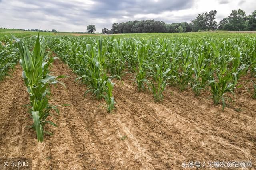
[[[163,100],[166,86],[177,86],[181,91],[191,86],[196,96],[201,90],[209,90],[213,103],[222,103],[224,109],[229,93],[234,94],[243,75],[250,74],[255,82],[256,38],[253,37],[51,37],[50,42],[59,44],[56,53],[97,98],[108,94],[108,78],[120,79],[129,72],[138,90],[147,87],[156,102]]]

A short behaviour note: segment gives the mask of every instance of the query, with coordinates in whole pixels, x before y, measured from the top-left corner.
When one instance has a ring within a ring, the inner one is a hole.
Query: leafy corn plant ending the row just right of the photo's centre
[[[153,81],[148,83],[148,86],[154,94],[155,102],[160,102],[163,100],[164,89],[168,85],[166,81],[170,79],[170,76],[168,76],[170,68],[160,68],[158,64],[155,64],[153,67],[148,66],[148,69],[150,70],[150,77],[153,79]]]

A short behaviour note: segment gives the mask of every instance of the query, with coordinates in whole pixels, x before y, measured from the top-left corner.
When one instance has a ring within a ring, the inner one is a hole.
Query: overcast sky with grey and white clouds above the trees
[[[256,0],[0,0],[0,27],[96,32],[113,22],[163,20],[190,22],[198,13],[217,10],[216,21],[234,9],[256,10]]]

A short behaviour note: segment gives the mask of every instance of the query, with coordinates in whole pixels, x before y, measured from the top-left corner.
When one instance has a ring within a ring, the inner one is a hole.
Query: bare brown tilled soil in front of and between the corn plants
[[[156,104],[150,92],[137,92],[128,76],[115,80],[116,109],[106,112],[104,101],[90,95],[86,86],[59,61],[52,74],[66,88],[52,86],[50,103],[60,115],[50,117],[54,136],[37,143],[27,109],[28,94],[16,66],[12,77],[0,82],[0,159],[31,158],[33,169],[182,169],[182,162],[252,161],[256,157],[256,100],[238,93],[232,106],[213,106],[208,92],[195,97],[188,88],[168,87],[164,102]],[[236,111],[236,108],[240,108]],[[239,111],[239,112],[238,112]],[[2,163],[0,164],[2,168]]]

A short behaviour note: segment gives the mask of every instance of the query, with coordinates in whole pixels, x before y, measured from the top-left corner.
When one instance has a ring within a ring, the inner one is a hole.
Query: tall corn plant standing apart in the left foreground
[[[39,33],[32,52],[29,51],[25,41],[20,41],[17,38],[16,41],[18,42],[21,56],[22,76],[27,86],[27,91],[30,94],[30,113],[34,121],[32,127],[36,131],[37,140],[42,142],[44,140],[44,133],[51,134],[44,131],[44,125],[48,123],[57,127],[55,123],[46,120],[50,114],[50,109],[53,108],[48,103],[48,86],[49,84],[58,83],[57,78],[64,78],[64,76],[54,77],[48,74],[48,63],[52,62],[53,59],[44,61],[45,42],[42,39],[42,44],[40,44]],[[63,84],[62,82],[60,83]]]

